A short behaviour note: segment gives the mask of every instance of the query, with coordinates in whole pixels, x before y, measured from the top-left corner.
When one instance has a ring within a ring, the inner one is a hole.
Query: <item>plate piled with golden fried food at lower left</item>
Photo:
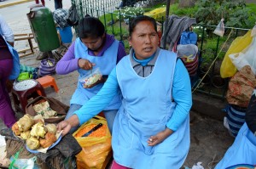
[[[26,140],[26,149],[31,153],[46,153],[61,141],[61,132],[57,132],[55,124],[44,124],[44,119],[38,116],[24,115],[15,122],[12,131],[15,138]]]

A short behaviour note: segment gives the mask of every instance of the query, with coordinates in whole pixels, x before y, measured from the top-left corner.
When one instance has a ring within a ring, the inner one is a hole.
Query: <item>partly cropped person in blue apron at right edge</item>
[[[256,89],[247,107],[246,122],[240,128],[235,142],[215,169],[224,169],[239,164],[256,165]]]

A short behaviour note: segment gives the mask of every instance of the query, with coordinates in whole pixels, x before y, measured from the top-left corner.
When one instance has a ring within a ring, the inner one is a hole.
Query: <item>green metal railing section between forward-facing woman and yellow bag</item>
[[[197,83],[195,82],[194,87],[197,87],[201,77],[204,76],[201,84],[199,84],[200,87],[196,91],[224,99],[230,78],[221,78],[220,65],[225,53],[230,48],[230,44],[236,37],[246,34],[248,29],[225,27],[224,37],[219,37],[212,33],[216,25],[195,25],[195,27],[200,27],[197,32],[200,62],[198,69],[199,79]],[[205,76],[206,73],[207,75]]]

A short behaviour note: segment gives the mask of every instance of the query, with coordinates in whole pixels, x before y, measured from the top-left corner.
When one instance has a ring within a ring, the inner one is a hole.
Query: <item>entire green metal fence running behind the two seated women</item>
[[[102,20],[108,34],[124,42],[126,52],[129,52],[128,45],[128,24],[125,20],[135,17],[134,15],[123,15],[121,10],[112,8],[119,4],[119,1],[102,0],[103,3],[96,2],[96,7],[92,5],[93,0],[73,0],[79,8],[79,19],[85,14],[90,14]],[[125,20],[124,20],[125,19]],[[163,30],[164,18],[159,21],[160,30]],[[219,99],[225,99],[229,78],[220,77],[220,65],[224,59],[224,54],[230,47],[231,42],[236,37],[243,36],[248,30],[241,28],[225,27],[224,37],[219,37],[212,32],[215,25],[193,25],[198,35],[199,48],[199,68],[198,78],[196,78],[193,91],[206,93]],[[202,79],[203,78],[203,79]]]

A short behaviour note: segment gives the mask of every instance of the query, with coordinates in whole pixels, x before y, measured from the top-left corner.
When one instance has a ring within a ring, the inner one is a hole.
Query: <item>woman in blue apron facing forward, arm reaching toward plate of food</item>
[[[116,93],[122,104],[113,122],[113,169],[180,168],[189,152],[189,73],[177,54],[158,48],[156,22],[131,20],[131,52],[112,70],[102,90],[58,124],[65,135],[104,109]]]

